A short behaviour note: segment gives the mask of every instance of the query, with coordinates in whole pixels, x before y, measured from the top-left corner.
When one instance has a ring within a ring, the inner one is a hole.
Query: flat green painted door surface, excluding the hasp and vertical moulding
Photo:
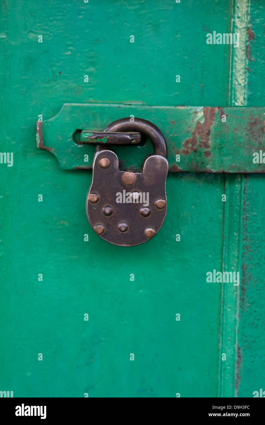
[[[94,234],[85,216],[91,171],[62,170],[50,152],[36,150],[35,123],[40,114],[51,119],[64,103],[228,106],[229,46],[208,46],[205,38],[209,30],[229,32],[230,2],[215,1],[211,8],[206,0],[106,0],[100,6],[54,0],[42,7],[9,0],[0,7],[2,93],[8,99],[1,103],[1,152],[14,152],[13,167],[0,164],[0,389],[14,391],[14,397],[83,397],[85,392],[89,397],[175,397],[177,392],[217,397],[220,286],[206,284],[205,274],[222,266],[224,177],[172,173],[167,218],[158,235],[134,248],[111,246]],[[249,41],[248,54],[255,59],[249,64],[249,106],[264,106],[263,11],[261,2],[253,2],[257,29]],[[43,43],[37,42],[40,34]],[[262,176],[250,176],[245,217],[262,189]],[[260,217],[261,199],[253,210]],[[263,367],[262,354],[256,351],[253,363],[248,347],[249,329],[256,350],[261,337],[261,297],[256,310],[248,307],[260,284],[250,272],[251,261],[262,252],[262,228],[256,229],[253,217],[242,229],[242,241],[250,238],[253,254],[248,250],[245,256],[247,301],[240,308],[246,306],[248,315],[241,314],[238,337],[239,396],[250,397],[252,386],[254,391],[262,385]],[[256,267],[262,275],[261,263]],[[248,327],[251,314],[256,328]]]

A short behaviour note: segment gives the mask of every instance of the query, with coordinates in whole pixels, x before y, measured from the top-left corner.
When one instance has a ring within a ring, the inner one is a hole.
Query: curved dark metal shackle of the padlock
[[[134,122],[131,122],[130,118],[117,119],[105,128],[104,132],[108,131],[139,131],[151,140],[156,155],[165,158],[168,156],[168,148],[163,133],[156,125],[146,119],[134,118]]]

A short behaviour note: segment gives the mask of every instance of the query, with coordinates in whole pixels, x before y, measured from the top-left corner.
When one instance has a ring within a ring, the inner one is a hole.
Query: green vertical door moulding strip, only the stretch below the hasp
[[[222,272],[240,272],[242,175],[225,175],[224,188],[226,202],[224,202],[223,215]],[[219,397],[234,397],[235,377],[237,375],[238,300],[239,286],[234,285],[234,283],[222,283]],[[223,354],[226,355],[226,360],[222,360]]]

